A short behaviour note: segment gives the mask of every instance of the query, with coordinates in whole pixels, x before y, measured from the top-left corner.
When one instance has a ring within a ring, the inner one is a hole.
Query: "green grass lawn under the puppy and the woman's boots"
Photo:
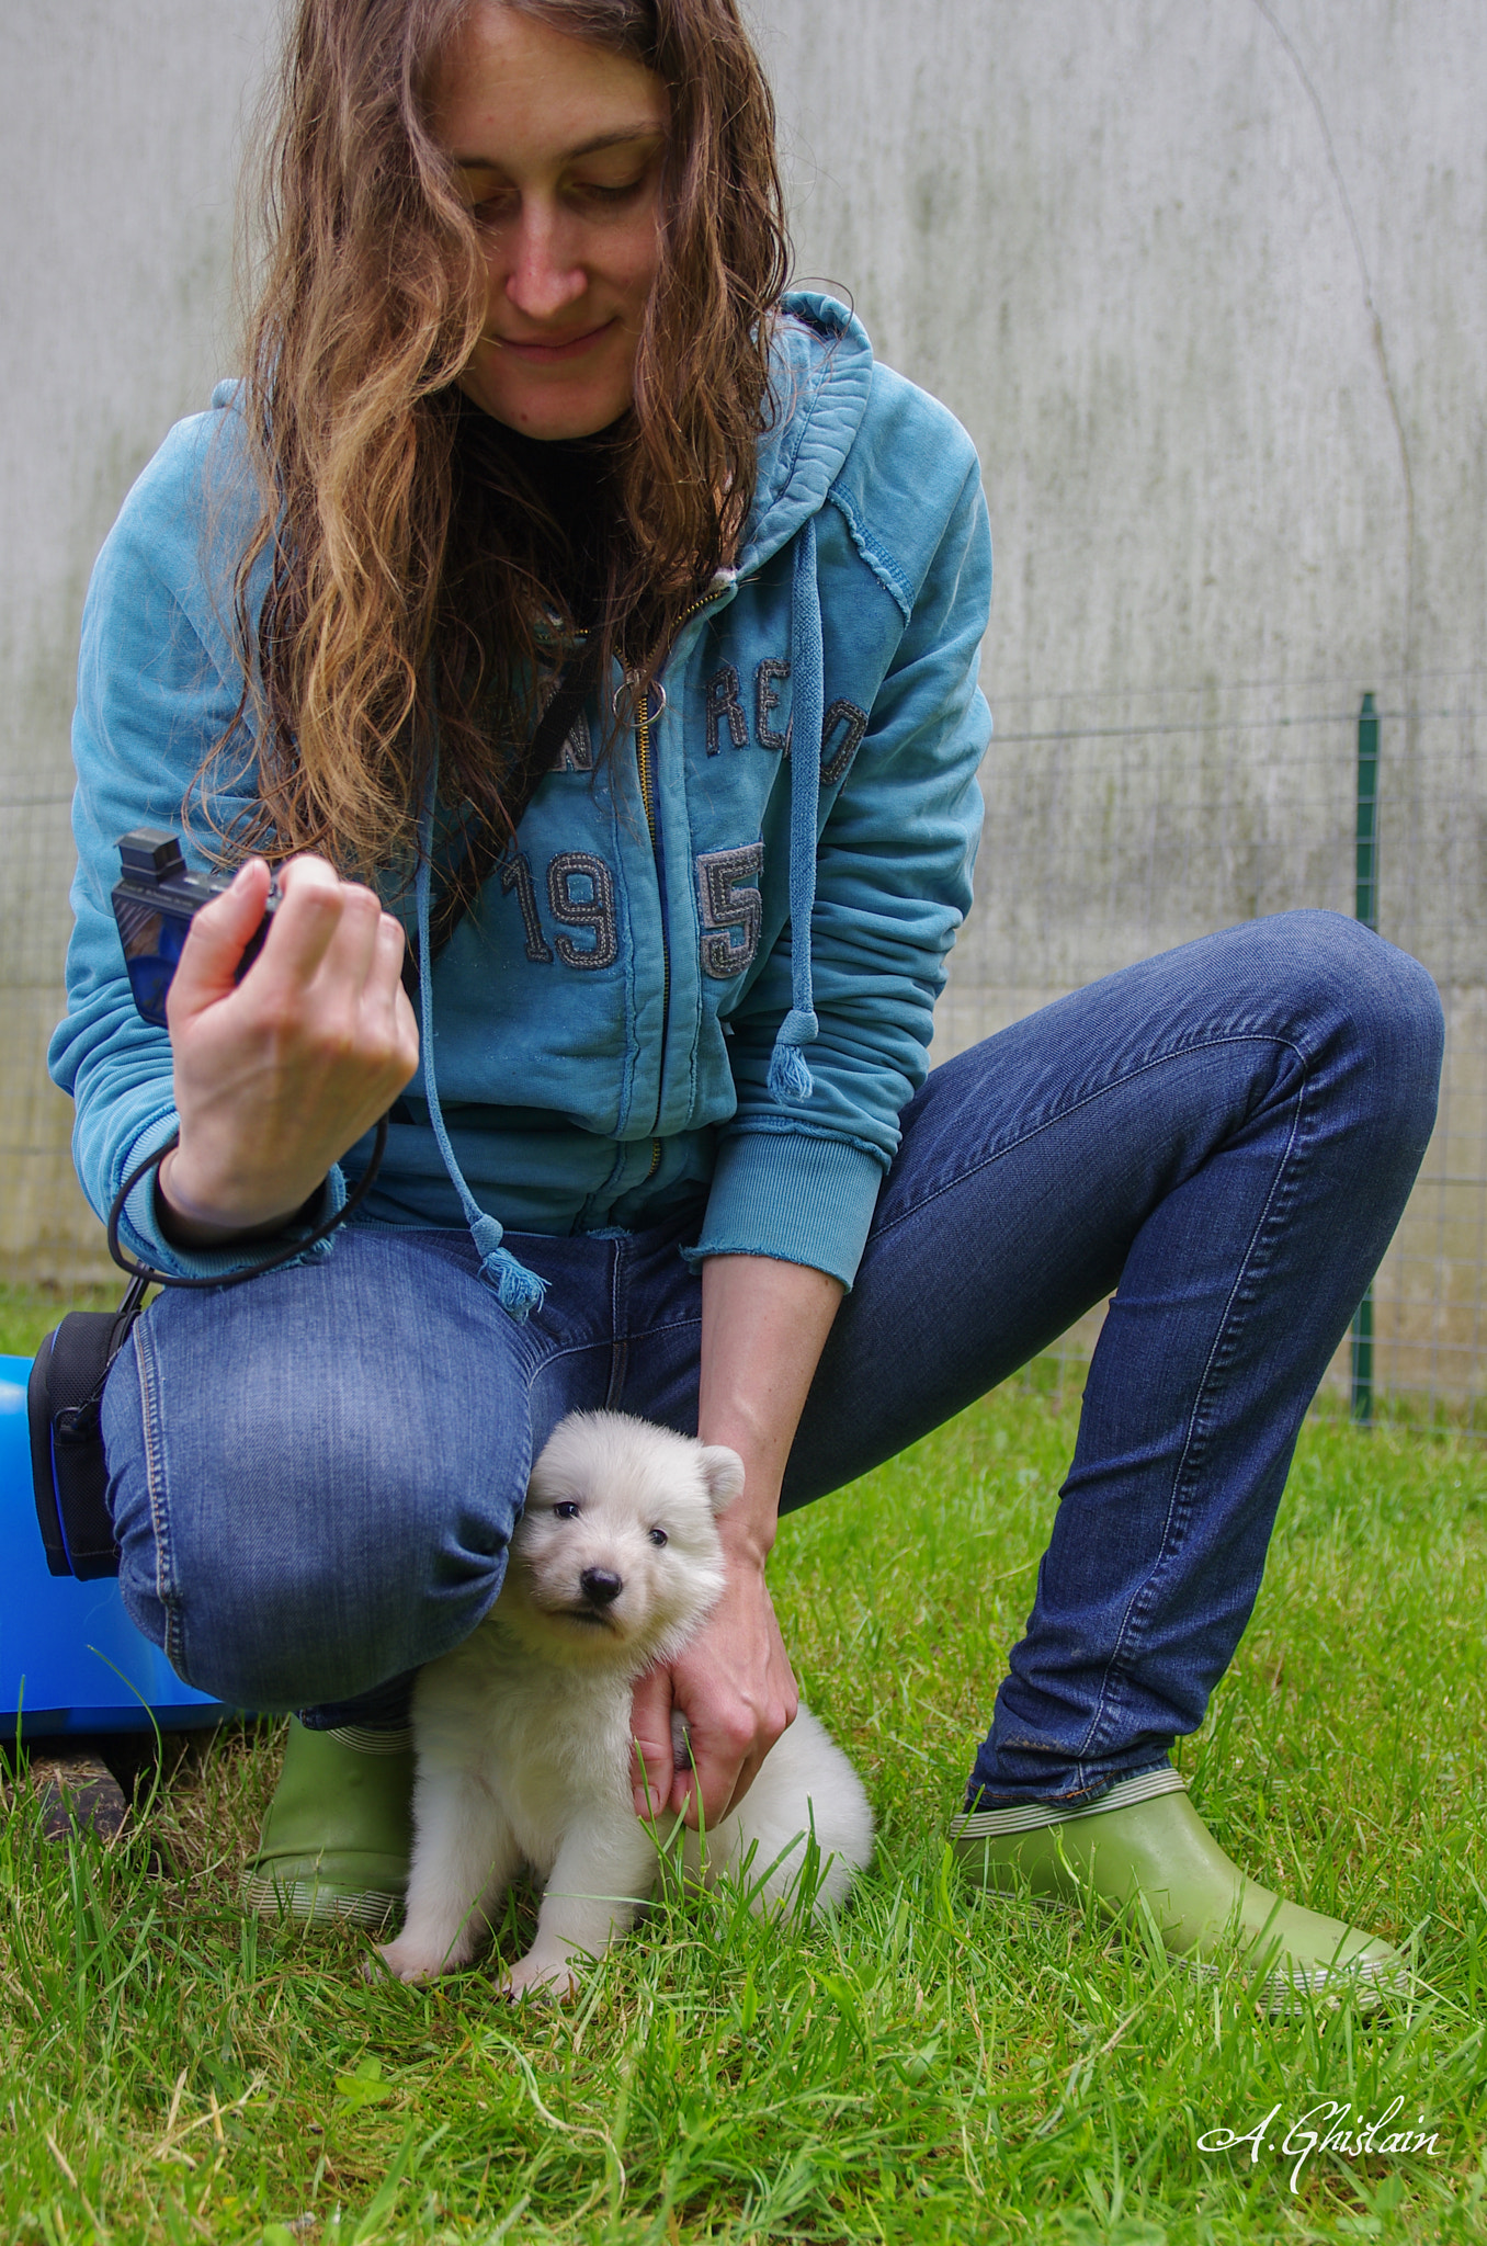
[[[1487,2237],[1487,1458],[1314,1422],[1193,1792],[1260,1878],[1415,1943],[1413,2006],[1262,2019],[1139,1929],[966,1896],[943,1851],[1033,1590],[1071,1406],[1006,1390],[786,1525],[802,1684],[858,1759],[878,1862],[827,1932],[658,1909],[571,2010],[487,1972],[368,1985],[364,1943],[234,1907],[270,1727],[189,1750],[112,1855],[0,1855],[0,2233],[676,2242]],[[521,1938],[530,1905],[512,1914]],[[1278,2140],[1402,2100],[1433,2152]],[[1204,2152],[1211,2131],[1271,2143]],[[1417,2122],[1424,2116],[1424,2122]]]

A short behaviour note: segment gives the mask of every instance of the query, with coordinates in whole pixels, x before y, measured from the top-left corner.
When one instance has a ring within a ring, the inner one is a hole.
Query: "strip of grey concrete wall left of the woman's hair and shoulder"
[[[119,501],[229,335],[245,92],[270,0],[0,11],[0,1276],[97,1267],[61,1013],[76,631]]]

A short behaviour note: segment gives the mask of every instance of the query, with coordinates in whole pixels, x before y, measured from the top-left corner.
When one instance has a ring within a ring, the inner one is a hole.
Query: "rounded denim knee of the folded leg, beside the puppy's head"
[[[474,1251],[440,1240],[350,1229],[321,1264],[166,1291],[115,1366],[121,1590],[202,1691],[353,1698],[447,1653],[496,1597],[530,1361]]]

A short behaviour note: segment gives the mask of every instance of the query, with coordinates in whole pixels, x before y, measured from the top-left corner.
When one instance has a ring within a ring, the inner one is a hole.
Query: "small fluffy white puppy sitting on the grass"
[[[469,1963],[526,1862],[546,1882],[510,1994],[573,1988],[656,1884],[631,1804],[631,1687],[674,1660],[723,1590],[717,1514],[744,1487],[735,1451],[618,1413],[571,1413],[532,1469],[505,1586],[487,1619],[418,1678],[407,1925],[382,1950],[402,1981]],[[685,1729],[678,1727],[678,1763]],[[669,1777],[665,1772],[663,1777]],[[863,1781],[804,1707],[739,1808],[685,1864],[788,1900],[820,1851],[815,1911],[872,1855]]]

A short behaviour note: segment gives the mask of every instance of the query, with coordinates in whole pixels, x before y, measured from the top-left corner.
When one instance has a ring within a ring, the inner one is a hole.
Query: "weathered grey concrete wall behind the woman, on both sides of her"
[[[1487,16],[746,4],[800,270],[854,294],[986,469],[1000,743],[937,1049],[1199,928],[1350,910],[1352,716],[1375,687],[1384,928],[1435,968],[1460,1049],[1435,1159],[1467,1179],[1460,1253],[1442,1258],[1431,1217],[1415,1325],[1474,1366]],[[54,0],[0,22],[0,166],[22,213],[0,326],[0,1262],[61,1276],[92,1238],[38,1071],[76,613],[130,476],[222,364],[236,135],[270,16]]]

